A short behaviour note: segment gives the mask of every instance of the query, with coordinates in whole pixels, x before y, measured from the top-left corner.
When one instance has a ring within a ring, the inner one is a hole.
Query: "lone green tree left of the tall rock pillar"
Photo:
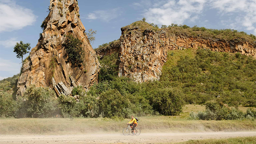
[[[16,45],[13,48],[13,52],[15,52],[17,55],[17,58],[21,58],[21,63],[22,63],[22,67],[23,67],[23,56],[25,54],[27,54],[30,50],[30,43],[24,44],[22,41],[20,41],[19,43],[16,43]]]

